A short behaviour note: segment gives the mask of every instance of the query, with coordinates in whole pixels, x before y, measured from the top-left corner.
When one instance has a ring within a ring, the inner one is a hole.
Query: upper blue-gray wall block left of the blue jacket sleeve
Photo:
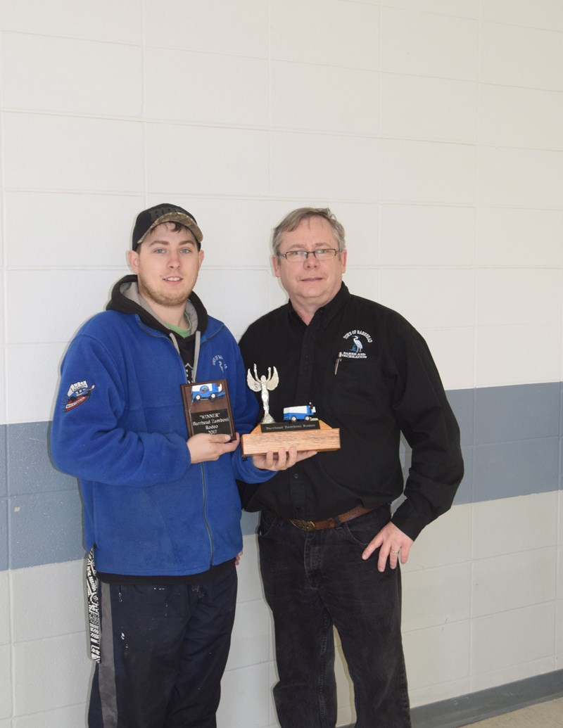
[[[49,454],[49,422],[26,422],[8,427],[9,494],[76,490],[76,478],[55,470]]]

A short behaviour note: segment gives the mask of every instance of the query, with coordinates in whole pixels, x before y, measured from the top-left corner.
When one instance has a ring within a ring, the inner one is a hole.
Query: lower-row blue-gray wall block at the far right
[[[474,458],[474,502],[558,488],[559,438],[478,445]]]

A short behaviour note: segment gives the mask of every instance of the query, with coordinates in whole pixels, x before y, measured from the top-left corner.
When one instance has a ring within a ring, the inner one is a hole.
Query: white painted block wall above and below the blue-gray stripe
[[[286,299],[272,226],[329,205],[350,288],[416,323],[446,388],[560,381],[562,40],[558,0],[0,0],[1,421],[50,419],[68,339],[166,199],[235,336]],[[562,503],[456,506],[417,539],[413,705],[563,667]],[[0,725],[84,724],[80,568],[0,574]],[[222,728],[277,725],[257,574],[245,537]]]

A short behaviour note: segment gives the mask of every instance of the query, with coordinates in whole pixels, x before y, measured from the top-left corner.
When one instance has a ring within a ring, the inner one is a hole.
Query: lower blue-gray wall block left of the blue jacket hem
[[[9,568],[72,561],[84,556],[78,488],[9,499]]]

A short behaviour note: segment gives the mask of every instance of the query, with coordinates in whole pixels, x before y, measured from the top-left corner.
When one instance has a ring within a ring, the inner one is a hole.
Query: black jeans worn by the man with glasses
[[[275,624],[282,728],[334,728],[333,625],[354,685],[356,728],[409,728],[401,642],[399,569],[377,570],[366,545],[390,520],[389,507],[336,529],[300,531],[264,511],[259,528],[264,593]]]

